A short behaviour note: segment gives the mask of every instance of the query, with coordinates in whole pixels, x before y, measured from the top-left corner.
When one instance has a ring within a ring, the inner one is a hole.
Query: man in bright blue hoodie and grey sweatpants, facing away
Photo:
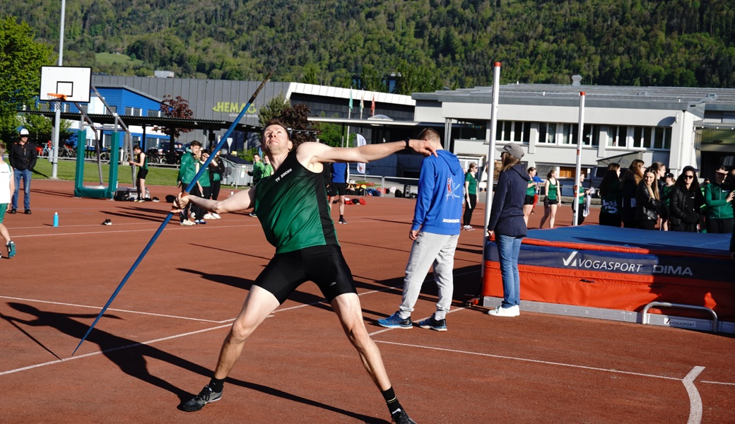
[[[411,256],[406,265],[404,298],[398,312],[378,320],[387,328],[412,328],[414,309],[426,273],[434,264],[434,281],[439,288],[437,312],[420,321],[421,328],[446,331],[446,314],[452,303],[454,289],[454,250],[459,240],[465,173],[459,159],[442,149],[442,139],[433,129],[424,129],[419,140],[429,140],[437,149],[437,157],[427,157],[421,163],[418,198],[409,238],[413,240]]]

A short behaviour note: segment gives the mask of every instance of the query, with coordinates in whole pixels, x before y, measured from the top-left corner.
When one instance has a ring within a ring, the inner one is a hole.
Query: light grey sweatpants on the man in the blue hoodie
[[[426,274],[429,273],[429,267],[433,264],[434,281],[439,289],[439,301],[434,318],[444,319],[452,304],[454,249],[457,247],[458,240],[459,234],[448,236],[424,231],[418,234],[418,238],[414,240],[411,247],[409,263],[406,265],[404,298],[398,309],[401,318],[411,316],[421,292],[421,285],[426,279]]]

